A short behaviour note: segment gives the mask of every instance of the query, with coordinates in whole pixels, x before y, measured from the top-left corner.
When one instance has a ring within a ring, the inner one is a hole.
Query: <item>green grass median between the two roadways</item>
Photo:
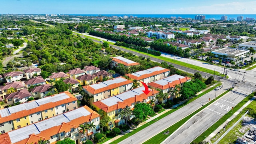
[[[231,89],[230,89],[231,90]],[[225,92],[223,92],[222,94],[220,94],[220,96],[218,96],[216,98],[216,100],[218,100],[220,97],[222,97],[224,94],[228,93],[230,90],[227,90]],[[212,104],[213,102],[215,102],[216,100],[212,100],[210,102],[208,102],[208,104]],[[204,108],[206,108],[208,106],[208,104],[205,104],[204,106],[202,106],[201,108],[199,108],[198,110],[196,110],[195,112],[193,112],[192,114],[186,116],[185,118],[183,118],[182,120],[176,122],[175,124],[173,124],[172,126],[170,126],[169,128],[166,128],[164,131],[160,132],[159,134],[157,134],[156,136],[150,138],[149,140],[147,140],[146,142],[144,142],[143,144],[160,144],[162,141],[164,141],[170,134],[172,134],[175,130],[177,130],[178,128],[180,128],[180,126],[182,126],[186,121],[188,121],[192,116],[196,115],[198,112],[200,112],[201,110],[203,110]],[[169,134],[163,134],[164,132],[169,130]]]

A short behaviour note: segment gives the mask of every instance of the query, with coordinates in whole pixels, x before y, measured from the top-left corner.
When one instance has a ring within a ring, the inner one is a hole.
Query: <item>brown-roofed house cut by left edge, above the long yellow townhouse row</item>
[[[24,89],[24,84],[22,82],[7,82],[4,86],[0,86],[0,96],[2,99],[4,99],[4,96],[6,94],[10,94],[10,89],[14,89],[14,92],[17,92],[18,90]]]

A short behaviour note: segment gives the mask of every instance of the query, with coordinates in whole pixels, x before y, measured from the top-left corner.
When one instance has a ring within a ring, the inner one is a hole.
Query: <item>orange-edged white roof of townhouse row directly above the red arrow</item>
[[[154,70],[156,69],[156,70]],[[129,78],[132,78],[134,80],[142,80],[144,78],[149,78],[151,76],[155,76],[158,74],[162,74],[164,72],[169,72],[170,70],[166,69],[166,68],[162,68],[160,66],[156,66],[154,68],[150,68],[147,70],[142,70],[139,72],[134,72],[132,74],[126,74],[126,76],[128,76]]]

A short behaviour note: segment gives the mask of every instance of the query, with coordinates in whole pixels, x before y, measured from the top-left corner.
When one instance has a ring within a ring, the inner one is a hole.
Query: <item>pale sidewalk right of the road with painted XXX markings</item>
[[[209,142],[210,140],[216,135],[218,134],[218,132],[220,132],[223,127],[230,122],[232,119],[234,119],[246,106],[248,106],[254,99],[256,98],[256,96],[254,96],[252,99],[250,99],[248,102],[246,102],[246,104],[244,104],[239,110],[237,110],[232,116],[230,116],[230,118],[228,118],[223,124],[221,124],[216,130],[214,130],[214,132],[212,132],[207,138],[204,139],[204,141]]]

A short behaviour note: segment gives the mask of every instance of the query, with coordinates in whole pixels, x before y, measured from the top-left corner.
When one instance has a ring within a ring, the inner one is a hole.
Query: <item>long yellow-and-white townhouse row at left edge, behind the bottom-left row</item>
[[[78,108],[69,92],[33,100],[0,110],[0,132],[9,132]]]

